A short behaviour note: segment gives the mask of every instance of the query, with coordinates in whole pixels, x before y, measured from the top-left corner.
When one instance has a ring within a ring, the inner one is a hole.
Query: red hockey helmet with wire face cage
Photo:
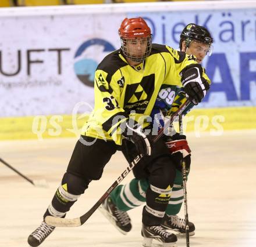
[[[150,55],[152,46],[151,30],[143,18],[126,18],[122,21],[118,32],[121,39],[121,49],[126,57],[133,61],[141,62]],[[145,42],[145,50],[134,52],[131,50],[132,48],[127,46],[128,43],[134,44],[136,42]]]

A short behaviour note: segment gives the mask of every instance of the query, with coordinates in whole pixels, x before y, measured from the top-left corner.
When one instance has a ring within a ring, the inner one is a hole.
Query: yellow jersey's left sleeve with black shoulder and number
[[[127,66],[127,63],[124,63],[118,57],[117,51],[111,53],[99,64],[95,71],[94,111],[85,126],[85,135],[104,140],[115,140],[120,143],[120,140],[116,139],[118,135],[115,131],[121,122],[129,118],[129,114],[125,112],[121,106],[122,104],[120,104],[122,95],[120,68]],[[115,135],[112,135],[113,133]]]

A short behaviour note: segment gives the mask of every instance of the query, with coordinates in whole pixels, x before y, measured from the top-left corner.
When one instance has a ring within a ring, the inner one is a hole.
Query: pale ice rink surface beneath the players
[[[256,130],[222,136],[187,135],[192,150],[188,187],[189,218],[195,224],[191,247],[256,246]],[[27,237],[39,226],[72,154],[76,139],[0,141],[0,157],[33,180],[34,187],[0,164],[0,246],[27,247]],[[90,162],[90,161],[88,161]],[[99,181],[93,181],[67,217],[83,215],[117,179],[127,163],[116,153]],[[126,177],[123,183],[132,178]],[[130,210],[133,228],[122,235],[98,210],[81,227],[56,228],[42,247],[141,246],[141,210]],[[183,216],[183,208],[180,216]],[[178,239],[177,246],[186,246]]]

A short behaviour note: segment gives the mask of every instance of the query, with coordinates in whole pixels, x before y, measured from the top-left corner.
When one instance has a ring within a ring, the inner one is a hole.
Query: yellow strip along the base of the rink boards
[[[0,140],[79,137],[88,114],[0,118]],[[222,135],[256,129],[256,107],[198,108],[184,118],[184,130]]]

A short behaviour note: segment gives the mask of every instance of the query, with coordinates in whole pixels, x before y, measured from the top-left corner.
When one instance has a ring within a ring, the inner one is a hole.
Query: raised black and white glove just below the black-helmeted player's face
[[[199,67],[191,67],[182,73],[182,85],[195,105],[204,99],[207,90],[210,88],[207,80],[201,77]]]

